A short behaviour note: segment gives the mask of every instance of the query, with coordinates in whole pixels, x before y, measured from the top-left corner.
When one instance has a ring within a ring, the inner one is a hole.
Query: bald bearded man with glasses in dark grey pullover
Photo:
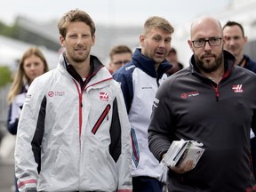
[[[203,16],[190,28],[189,67],[169,76],[156,92],[148,127],[149,148],[161,161],[173,140],[196,140],[204,154],[169,166],[169,192],[256,191],[250,130],[256,132],[256,75],[223,51],[220,21]]]

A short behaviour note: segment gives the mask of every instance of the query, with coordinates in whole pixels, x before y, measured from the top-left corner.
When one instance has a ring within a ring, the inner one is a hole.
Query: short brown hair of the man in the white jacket
[[[91,35],[94,36],[96,28],[92,18],[89,14],[87,14],[87,12],[78,9],[70,10],[60,18],[60,21],[58,23],[60,36],[63,36],[65,38],[67,34],[68,25],[71,22],[75,21],[83,21],[86,25],[88,25],[91,28]]]

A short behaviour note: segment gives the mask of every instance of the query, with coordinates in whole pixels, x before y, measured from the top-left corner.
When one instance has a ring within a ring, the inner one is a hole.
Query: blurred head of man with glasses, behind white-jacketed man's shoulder
[[[131,61],[132,50],[124,44],[116,45],[111,49],[109,58],[108,70],[113,74],[118,68]]]

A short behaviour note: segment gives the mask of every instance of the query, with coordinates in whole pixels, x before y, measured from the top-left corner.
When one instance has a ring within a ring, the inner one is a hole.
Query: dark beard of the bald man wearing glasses
[[[215,56],[215,58],[216,60],[212,63],[204,63],[203,60],[199,59],[195,55],[196,66],[197,68],[203,70],[205,73],[212,73],[213,71],[216,71],[218,68],[220,68],[222,64],[223,54],[221,53],[218,57]]]

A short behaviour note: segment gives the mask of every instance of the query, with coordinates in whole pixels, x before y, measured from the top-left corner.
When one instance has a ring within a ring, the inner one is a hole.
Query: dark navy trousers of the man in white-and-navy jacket
[[[163,183],[150,177],[133,177],[132,192],[163,192]]]

